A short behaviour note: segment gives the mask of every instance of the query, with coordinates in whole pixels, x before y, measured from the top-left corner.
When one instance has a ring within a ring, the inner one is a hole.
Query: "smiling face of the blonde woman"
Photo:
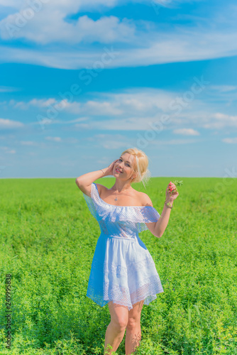
[[[114,177],[128,180],[133,176],[133,155],[125,153],[114,164]],[[121,172],[119,173],[118,170]]]

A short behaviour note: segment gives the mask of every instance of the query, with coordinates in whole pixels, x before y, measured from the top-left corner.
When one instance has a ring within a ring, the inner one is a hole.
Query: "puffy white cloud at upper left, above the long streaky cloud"
[[[26,9],[1,20],[1,38],[4,40],[24,38],[40,45],[52,42],[126,43],[132,40],[136,30],[133,21],[126,18],[120,20],[116,16],[102,16],[94,21],[85,15],[74,23],[68,23],[65,21],[65,9],[60,9],[60,6],[44,6],[38,13],[31,8],[28,8],[28,11],[32,13],[29,20]],[[20,18],[23,24],[21,26],[18,25]]]

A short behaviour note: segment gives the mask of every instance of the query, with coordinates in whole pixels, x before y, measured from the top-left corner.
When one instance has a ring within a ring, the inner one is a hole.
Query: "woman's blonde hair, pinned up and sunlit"
[[[126,151],[123,151],[121,155],[128,153],[133,155],[133,171],[137,174],[136,178],[131,180],[132,182],[144,182],[147,183],[150,179],[150,170],[148,170],[148,156],[145,155],[143,151],[140,151],[138,148],[128,148]]]

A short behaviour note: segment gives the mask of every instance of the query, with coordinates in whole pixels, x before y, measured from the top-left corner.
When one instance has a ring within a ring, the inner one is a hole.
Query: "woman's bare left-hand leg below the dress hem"
[[[110,355],[112,351],[118,349],[128,323],[128,307],[116,305],[113,301],[110,301],[108,306],[111,321],[106,329],[104,355]],[[106,349],[108,344],[112,346],[112,349]]]

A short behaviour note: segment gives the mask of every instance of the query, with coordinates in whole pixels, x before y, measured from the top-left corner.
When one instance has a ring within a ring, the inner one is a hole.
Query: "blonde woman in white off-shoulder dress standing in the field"
[[[94,183],[108,175],[116,178],[110,189]],[[138,233],[149,229],[160,238],[168,224],[172,203],[179,194],[175,184],[170,182],[160,216],[150,197],[131,187],[132,182],[143,182],[147,175],[148,157],[143,151],[130,148],[108,168],[76,179],[101,229],[87,297],[101,307],[108,303],[111,322],[106,329],[104,354],[118,349],[125,329],[126,355],[135,351],[141,339],[140,312],[143,304],[148,305],[155,300],[156,294],[164,292],[153,258]]]

